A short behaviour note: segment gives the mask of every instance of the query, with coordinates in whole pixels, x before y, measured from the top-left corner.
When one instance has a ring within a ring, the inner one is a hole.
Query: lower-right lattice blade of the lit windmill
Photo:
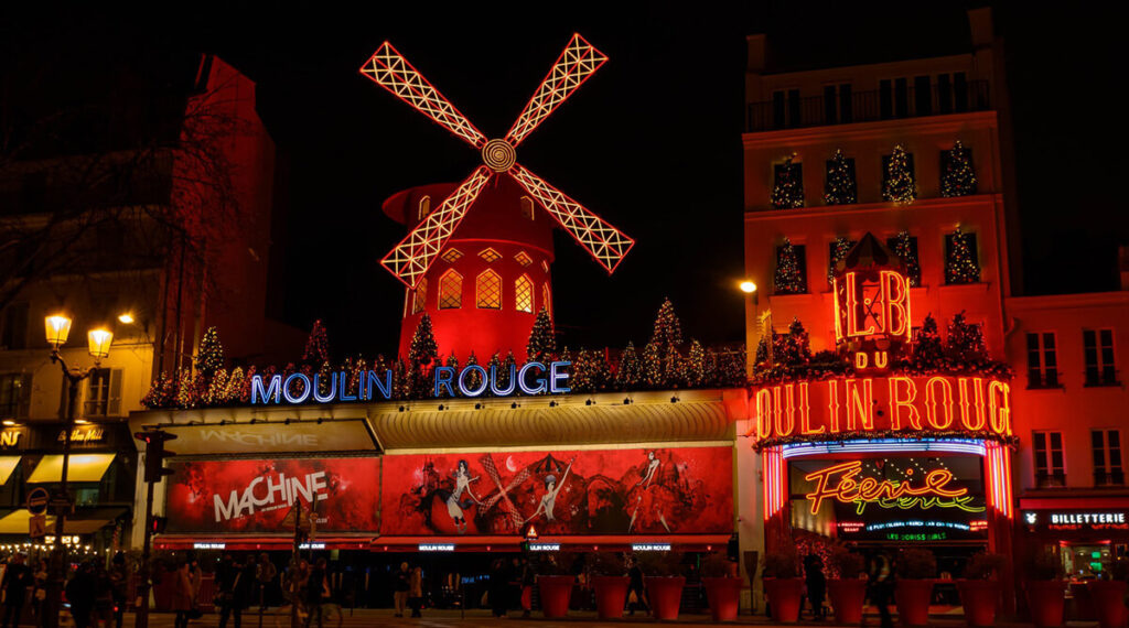
[[[602,218],[584,209],[522,165],[515,163],[509,174],[576,238],[576,241],[580,242],[580,246],[587,249],[607,274],[615,271],[623,256],[634,246],[634,240],[622,231],[604,222]]]

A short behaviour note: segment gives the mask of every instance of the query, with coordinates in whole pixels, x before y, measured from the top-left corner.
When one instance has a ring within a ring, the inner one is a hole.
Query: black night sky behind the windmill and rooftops
[[[115,62],[211,52],[255,80],[285,177],[273,254],[287,281],[270,313],[304,328],[325,319],[341,354],[391,352],[399,334],[403,290],[378,260],[404,231],[384,216],[383,200],[461,180],[479,163],[476,151],[358,72],[384,39],[488,136],[509,129],[574,32],[610,58],[518,148],[520,162],[638,240],[607,277],[558,232],[554,306],[572,347],[646,342],[664,297],[688,336],[743,340],[746,35],[768,33],[790,69],[969,50],[966,5],[956,2],[867,3],[865,12],[826,1],[380,5],[287,12],[194,2],[160,17],[59,10],[50,20],[8,19],[0,35],[6,54],[77,42],[86,50],[104,42]],[[1124,16],[1112,10],[1027,2],[996,10],[1029,293],[1117,289],[1117,246],[1129,242],[1120,191],[1129,159],[1117,96]]]

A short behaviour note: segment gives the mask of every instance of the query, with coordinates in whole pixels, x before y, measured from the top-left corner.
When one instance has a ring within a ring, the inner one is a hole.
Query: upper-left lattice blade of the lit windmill
[[[360,68],[360,73],[387,89],[423,115],[438,122],[476,149],[487,138],[454,105],[439,94],[392,44],[384,42]]]

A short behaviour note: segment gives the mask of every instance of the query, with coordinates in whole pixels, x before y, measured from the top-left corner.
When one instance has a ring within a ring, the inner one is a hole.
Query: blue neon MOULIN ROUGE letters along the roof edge
[[[511,395],[563,395],[568,387],[568,368],[571,362],[526,362],[520,368],[509,365],[509,373],[499,373],[498,366],[470,364],[463,369],[436,366],[432,383],[436,397],[480,397],[489,391],[495,397]],[[508,377],[506,377],[508,375]],[[392,399],[392,371],[364,371],[358,384],[350,386],[349,373],[329,374],[329,386],[323,391],[322,374],[290,373],[288,375],[254,374],[251,378],[251,403],[260,404],[334,404],[342,401],[376,401]]]

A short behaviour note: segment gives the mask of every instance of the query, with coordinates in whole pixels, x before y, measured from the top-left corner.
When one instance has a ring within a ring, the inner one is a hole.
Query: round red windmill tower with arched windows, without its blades
[[[409,228],[420,220],[420,203],[429,198],[430,210],[436,207],[454,189],[453,184],[436,184],[405,189],[384,203],[384,211]],[[445,359],[452,352],[465,364],[466,356],[474,352],[480,363],[485,363],[495,352],[505,356],[508,351],[520,361],[525,356],[525,345],[533,328],[533,320],[542,306],[552,315],[552,303],[546,303],[545,286],[552,291],[551,268],[553,262],[552,219],[540,206],[534,206],[530,219],[527,206],[523,206],[523,193],[509,177],[495,177],[470,210],[448,240],[444,251],[457,249],[462,257],[455,262],[436,258],[425,275],[427,282],[425,307],[421,312],[412,312],[411,291],[404,303],[404,319],[400,333],[400,355],[406,356],[412,335],[425,312],[431,317],[439,354]],[[425,214],[426,215],[426,214]],[[492,248],[501,255],[492,262],[479,254]],[[523,265],[517,256],[528,256]],[[475,278],[487,268],[501,276],[501,308],[480,309],[476,307]],[[462,306],[457,309],[440,309],[440,277],[454,269],[463,277]],[[516,309],[515,282],[525,275],[533,283],[533,303],[530,312]],[[550,297],[550,301],[551,301]]]

